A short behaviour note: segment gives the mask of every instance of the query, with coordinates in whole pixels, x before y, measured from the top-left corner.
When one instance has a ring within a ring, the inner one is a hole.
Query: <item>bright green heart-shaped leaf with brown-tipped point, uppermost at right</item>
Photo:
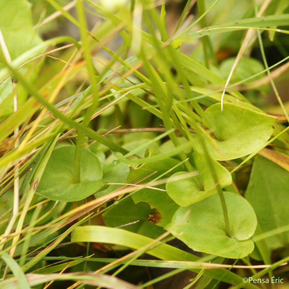
[[[260,149],[273,134],[276,122],[273,116],[232,103],[224,103],[223,111],[221,103],[213,104],[205,114],[210,123],[203,119],[203,125],[215,138],[207,136],[204,140],[216,160],[233,160]],[[204,152],[199,136],[194,139],[197,151]]]

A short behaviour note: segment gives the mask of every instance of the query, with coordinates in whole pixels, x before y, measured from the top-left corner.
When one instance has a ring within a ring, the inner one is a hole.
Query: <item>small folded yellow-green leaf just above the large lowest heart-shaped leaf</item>
[[[204,190],[199,188],[192,177],[176,180],[178,175],[185,174],[186,172],[173,174],[166,183],[168,195],[182,207],[197,203],[217,192],[217,189],[214,188],[215,181],[205,155],[203,153],[193,153],[193,160]],[[231,174],[216,160],[211,159],[211,162],[218,181],[220,181],[221,188],[229,186],[232,183]]]

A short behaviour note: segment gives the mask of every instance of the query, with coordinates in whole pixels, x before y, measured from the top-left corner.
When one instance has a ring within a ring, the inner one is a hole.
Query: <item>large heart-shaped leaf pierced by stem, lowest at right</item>
[[[246,199],[224,192],[230,222],[230,236],[226,234],[221,201],[214,194],[202,201],[180,207],[171,223],[164,229],[183,241],[194,251],[225,258],[243,258],[254,249],[252,240],[257,218]],[[188,214],[186,216],[186,214]]]

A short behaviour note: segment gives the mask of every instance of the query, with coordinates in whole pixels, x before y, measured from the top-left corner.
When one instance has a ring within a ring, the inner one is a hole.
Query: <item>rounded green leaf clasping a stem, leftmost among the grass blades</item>
[[[82,200],[97,192],[106,183],[101,181],[101,164],[94,153],[81,150],[80,183],[73,183],[75,147],[55,149],[49,158],[37,188],[47,199],[62,202]]]

